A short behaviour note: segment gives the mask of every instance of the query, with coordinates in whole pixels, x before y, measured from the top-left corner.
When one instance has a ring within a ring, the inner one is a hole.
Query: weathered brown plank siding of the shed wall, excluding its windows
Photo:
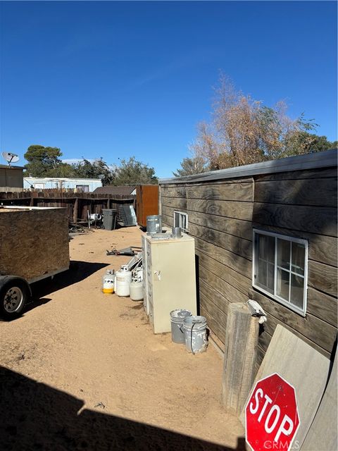
[[[337,168],[208,183],[161,185],[161,214],[173,227],[188,214],[199,268],[199,307],[224,343],[229,302],[258,301],[268,314],[258,364],[277,324],[330,357],[337,337]],[[308,240],[306,317],[252,288],[252,230]]]

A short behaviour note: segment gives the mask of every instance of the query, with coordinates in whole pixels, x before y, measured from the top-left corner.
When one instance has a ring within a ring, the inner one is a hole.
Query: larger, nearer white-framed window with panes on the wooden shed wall
[[[252,285],[305,316],[308,242],[253,229]]]

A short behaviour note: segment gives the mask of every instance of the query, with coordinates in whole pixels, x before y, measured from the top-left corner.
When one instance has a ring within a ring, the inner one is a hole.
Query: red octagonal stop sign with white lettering
[[[301,422],[294,387],[274,373],[258,381],[245,407],[246,442],[253,451],[287,451]]]

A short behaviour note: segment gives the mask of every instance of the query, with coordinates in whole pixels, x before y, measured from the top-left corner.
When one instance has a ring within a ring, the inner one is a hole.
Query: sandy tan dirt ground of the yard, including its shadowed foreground
[[[101,292],[105,269],[130,259],[106,249],[141,234],[75,236],[70,271],[35,283],[25,314],[0,323],[1,449],[244,449],[213,345],[193,356],[152,333],[142,302]]]

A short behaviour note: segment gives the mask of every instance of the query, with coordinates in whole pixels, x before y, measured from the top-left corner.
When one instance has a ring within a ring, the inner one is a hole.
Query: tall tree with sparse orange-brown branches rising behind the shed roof
[[[284,101],[274,108],[264,106],[262,101],[237,91],[221,74],[212,121],[199,123],[191,150],[206,159],[211,170],[308,152],[310,138],[302,133],[310,135],[308,130],[315,125],[304,121],[302,115],[289,118],[286,111]]]

